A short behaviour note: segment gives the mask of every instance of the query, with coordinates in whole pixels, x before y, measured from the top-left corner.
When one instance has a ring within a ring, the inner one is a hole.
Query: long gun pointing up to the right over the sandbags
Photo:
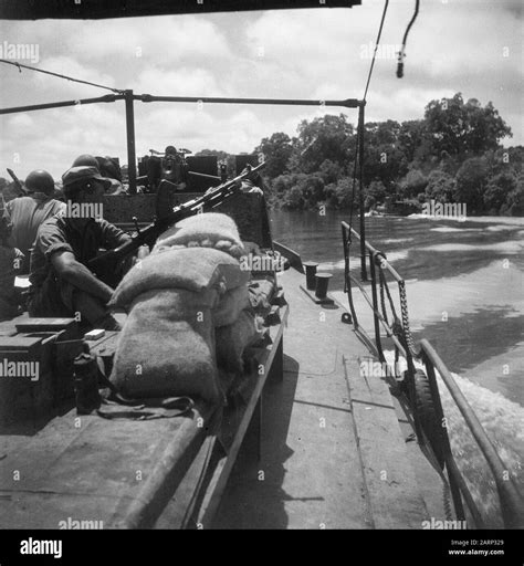
[[[167,213],[167,207],[163,205],[166,205],[166,201],[170,200],[170,191],[172,190],[171,187],[174,184],[168,180],[163,180],[157,192],[157,217],[155,221],[144,230],[139,230],[137,227],[137,234],[133,237],[132,240],[94,258],[87,262],[87,268],[98,275],[101,275],[98,273],[101,270],[104,274],[113,274],[111,279],[114,280],[118,262],[136,252],[142,245],[151,248],[161,233],[180,220],[202,212],[203,210],[216,208],[226,199],[235,195],[240,190],[241,182],[258,174],[264,166],[265,163],[254,168],[248,166],[245,172],[234,177],[234,179],[230,179],[218,187],[208,189],[201,197],[184,202],[174,209],[171,208]]]

